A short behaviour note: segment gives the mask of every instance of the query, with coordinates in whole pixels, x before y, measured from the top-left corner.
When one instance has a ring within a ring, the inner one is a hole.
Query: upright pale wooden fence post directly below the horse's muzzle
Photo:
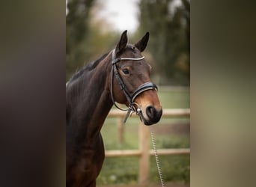
[[[150,164],[150,153],[149,153],[149,128],[145,126],[144,123],[140,123],[138,128],[139,135],[139,150],[141,151],[141,156],[139,159],[139,175],[138,183],[141,186],[146,186],[149,182],[149,164]]]

